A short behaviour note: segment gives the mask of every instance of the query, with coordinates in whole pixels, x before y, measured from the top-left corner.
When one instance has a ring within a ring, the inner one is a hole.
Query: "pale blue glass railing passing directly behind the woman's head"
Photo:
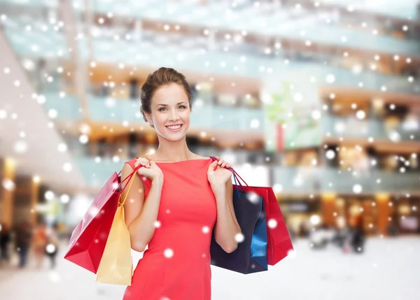
[[[74,96],[59,93],[45,93],[45,110],[55,110],[57,117],[64,120],[80,120],[80,101]],[[265,112],[259,108],[223,107],[200,103],[211,103],[211,94],[199,94],[193,103],[190,124],[196,129],[221,129],[261,132],[264,131]],[[111,97],[87,97],[88,109],[92,120],[99,122],[116,122],[122,124],[144,124],[140,113],[140,101],[113,99]],[[336,117],[323,115],[321,127],[324,136],[375,138],[389,140],[398,135],[401,141],[420,141],[416,131],[406,131],[402,127],[386,131],[381,120],[358,120],[354,117]],[[398,141],[398,140],[393,140]]]

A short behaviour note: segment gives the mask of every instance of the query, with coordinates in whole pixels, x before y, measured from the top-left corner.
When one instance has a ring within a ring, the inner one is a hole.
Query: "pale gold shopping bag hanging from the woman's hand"
[[[125,199],[127,199],[130,187],[133,183],[134,174],[130,180]],[[124,220],[124,203],[118,203],[111,231],[99,263],[97,271],[97,283],[111,283],[113,285],[131,285],[133,262],[131,255],[130,232]]]

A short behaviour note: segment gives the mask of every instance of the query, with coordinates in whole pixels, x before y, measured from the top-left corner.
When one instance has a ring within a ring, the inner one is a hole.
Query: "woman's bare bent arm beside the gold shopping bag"
[[[122,180],[132,173],[129,164],[124,164]],[[128,179],[125,184],[128,183]],[[160,195],[162,194],[163,179],[152,180],[151,189],[144,200],[144,183],[140,176],[134,174],[133,183],[124,204],[125,224],[130,232],[132,249],[143,252],[146,245],[155,234],[155,222],[158,220]],[[123,192],[123,199],[127,194],[128,186]]]

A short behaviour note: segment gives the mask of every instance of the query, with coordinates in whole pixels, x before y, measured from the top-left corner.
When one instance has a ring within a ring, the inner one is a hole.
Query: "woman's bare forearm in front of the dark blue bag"
[[[211,187],[217,203],[217,221],[214,238],[225,252],[232,253],[238,247],[235,236],[241,233],[232,201],[232,180],[225,185]]]

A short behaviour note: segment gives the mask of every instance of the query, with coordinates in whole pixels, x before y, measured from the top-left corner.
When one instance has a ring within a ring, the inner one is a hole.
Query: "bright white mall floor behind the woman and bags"
[[[332,245],[312,250],[304,239],[295,241],[295,250],[295,257],[262,273],[242,275],[212,266],[212,299],[420,299],[419,236],[370,238],[361,255],[344,254]],[[34,266],[0,269],[0,299],[122,299],[123,286],[95,283],[94,274],[64,259],[54,270],[48,263],[45,259],[41,271]]]

